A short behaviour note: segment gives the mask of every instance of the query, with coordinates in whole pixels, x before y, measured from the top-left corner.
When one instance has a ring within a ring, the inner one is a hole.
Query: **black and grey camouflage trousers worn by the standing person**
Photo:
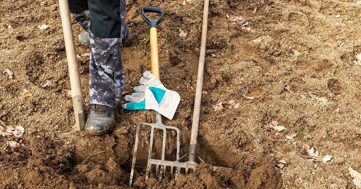
[[[75,20],[90,34],[90,103],[115,108],[121,99],[125,85],[121,55],[122,43],[128,42],[131,38],[125,23],[126,2],[125,0],[114,1],[120,3],[113,9],[119,9],[109,12],[104,8],[104,11],[100,12],[99,10],[92,11],[91,1],[96,0],[89,0],[89,10],[84,4],[86,7],[81,8],[86,10],[72,12]],[[79,4],[79,1],[77,3]],[[100,3],[105,2],[100,1]],[[97,6],[93,9],[102,9],[102,7]],[[102,21],[101,18],[105,20]]]

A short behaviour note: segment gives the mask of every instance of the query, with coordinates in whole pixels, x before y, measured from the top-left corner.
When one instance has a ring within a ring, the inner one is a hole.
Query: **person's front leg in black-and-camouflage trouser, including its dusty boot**
[[[125,24],[125,0],[89,0],[91,111],[86,123],[90,134],[111,129],[114,108],[124,89],[122,39],[129,36]],[[127,35],[127,36],[125,36]]]

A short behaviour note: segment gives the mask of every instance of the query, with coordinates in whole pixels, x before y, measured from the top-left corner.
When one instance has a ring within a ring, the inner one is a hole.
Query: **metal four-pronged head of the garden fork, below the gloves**
[[[164,124],[162,124],[161,121],[161,116],[160,114],[158,114],[157,112],[155,113],[155,117],[156,117],[156,123],[139,123],[137,126],[137,130],[136,130],[136,136],[135,136],[135,145],[134,145],[134,155],[133,155],[133,162],[132,162],[132,168],[131,168],[131,172],[130,172],[130,180],[129,180],[129,186],[132,185],[132,180],[133,180],[133,175],[134,175],[134,168],[135,168],[135,160],[136,160],[136,155],[137,155],[137,149],[138,149],[138,142],[139,142],[139,129],[141,125],[147,125],[147,126],[151,126],[151,137],[150,137],[150,142],[149,142],[149,154],[148,154],[148,165],[147,165],[147,172],[146,172],[146,176],[145,176],[145,180],[148,179],[149,176],[149,172],[151,170],[152,165],[155,165],[155,163],[153,163],[153,161],[164,161],[164,162],[168,162],[164,160],[164,156],[165,156],[165,145],[166,145],[166,131],[167,130],[175,130],[175,132],[177,133],[177,159],[179,159],[179,148],[180,148],[180,143],[181,143],[181,132],[179,131],[178,128],[174,127],[174,126],[166,126]],[[161,156],[161,160],[157,160],[157,159],[152,159],[152,149],[153,149],[153,139],[154,139],[154,130],[155,129],[159,129],[159,130],[163,130],[163,142],[162,142],[162,156]],[[159,180],[162,180],[162,175],[163,172],[165,171],[165,166],[161,165],[158,163],[158,166],[156,167],[156,172],[157,175],[159,174]]]

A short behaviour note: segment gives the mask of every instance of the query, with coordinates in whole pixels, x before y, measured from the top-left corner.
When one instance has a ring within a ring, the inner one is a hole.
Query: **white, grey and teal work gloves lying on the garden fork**
[[[134,93],[124,97],[127,103],[122,107],[127,110],[152,109],[171,120],[181,100],[179,94],[166,89],[149,71],[143,73],[139,84],[134,87]]]

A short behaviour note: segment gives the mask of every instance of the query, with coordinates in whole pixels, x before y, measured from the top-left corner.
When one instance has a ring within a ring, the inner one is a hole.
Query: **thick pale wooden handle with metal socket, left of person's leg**
[[[61,24],[64,33],[66,59],[68,60],[71,94],[75,113],[75,130],[84,130],[83,91],[80,82],[77,52],[75,51],[73,28],[71,27],[68,0],[59,0]]]

